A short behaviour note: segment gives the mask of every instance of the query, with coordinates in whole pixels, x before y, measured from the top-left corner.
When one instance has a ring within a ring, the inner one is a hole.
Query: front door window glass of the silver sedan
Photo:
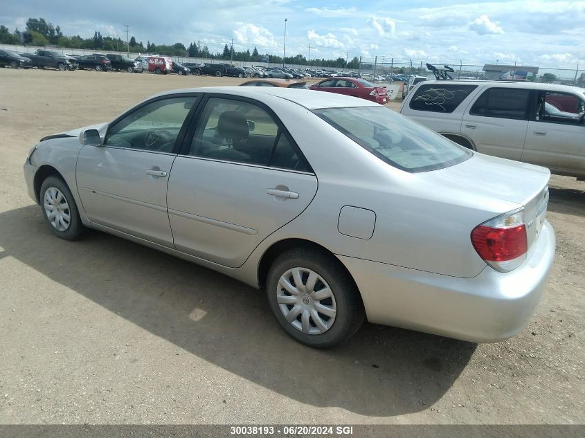
[[[105,146],[172,152],[183,122],[197,97],[155,100],[109,127]]]

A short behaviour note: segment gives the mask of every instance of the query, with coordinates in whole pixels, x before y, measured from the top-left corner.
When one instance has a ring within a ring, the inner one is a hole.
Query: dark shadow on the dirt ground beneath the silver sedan
[[[58,239],[37,206],[0,213],[0,230],[1,256],[302,403],[367,416],[418,412],[449,390],[476,349],[370,324],[345,345],[310,349],[278,327],[264,293],[214,271],[101,232],[74,242]]]

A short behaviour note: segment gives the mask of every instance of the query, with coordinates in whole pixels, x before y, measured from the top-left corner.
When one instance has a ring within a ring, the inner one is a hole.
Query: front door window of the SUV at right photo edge
[[[543,91],[538,95],[536,120],[575,125],[583,111],[585,102],[576,95]]]

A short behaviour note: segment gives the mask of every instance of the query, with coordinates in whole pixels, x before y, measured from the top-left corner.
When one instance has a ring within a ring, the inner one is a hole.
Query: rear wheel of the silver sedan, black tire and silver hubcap
[[[294,284],[295,276],[303,286]],[[315,277],[313,285],[305,289],[309,278]],[[286,282],[289,289],[283,286]],[[276,257],[267,277],[267,299],[287,334],[309,347],[329,348],[343,343],[365,319],[350,274],[332,255],[309,247],[292,248]]]

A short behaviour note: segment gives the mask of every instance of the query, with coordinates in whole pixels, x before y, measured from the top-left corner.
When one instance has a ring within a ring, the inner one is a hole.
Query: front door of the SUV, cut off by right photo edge
[[[562,174],[585,175],[585,125],[579,123],[585,101],[559,91],[534,95],[537,110],[528,122],[522,161]]]

